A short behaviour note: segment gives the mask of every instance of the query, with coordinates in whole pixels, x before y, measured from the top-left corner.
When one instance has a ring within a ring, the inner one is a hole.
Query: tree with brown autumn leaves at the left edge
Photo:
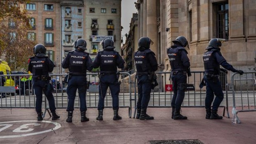
[[[5,56],[11,70],[26,70],[28,57],[33,56],[36,44],[33,35],[28,34],[31,26],[26,11],[20,7],[26,2],[0,1],[0,55]]]

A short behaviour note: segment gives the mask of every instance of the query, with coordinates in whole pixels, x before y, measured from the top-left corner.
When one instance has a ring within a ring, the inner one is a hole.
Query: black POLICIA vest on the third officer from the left
[[[116,73],[117,58],[116,51],[100,51],[100,72],[101,73]]]

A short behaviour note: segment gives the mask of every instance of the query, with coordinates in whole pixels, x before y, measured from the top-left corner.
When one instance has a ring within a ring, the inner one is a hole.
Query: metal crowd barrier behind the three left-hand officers
[[[128,87],[126,91],[123,93],[119,93],[119,107],[128,108],[129,117],[131,117],[131,107],[132,107],[132,91],[131,86],[134,84],[131,81],[131,76],[128,72],[120,72],[120,80],[121,77],[126,77],[127,86],[123,86],[122,88]],[[31,74],[9,74],[9,75],[1,75],[3,77],[12,77],[14,80],[14,84],[12,86],[0,86],[0,94],[5,93],[6,98],[2,98],[0,96],[0,107],[1,108],[34,108],[36,106],[36,95],[33,92],[33,86],[29,83],[32,82],[28,81],[21,81],[22,77],[29,77]],[[55,98],[55,106],[56,108],[66,108],[68,103],[68,98],[66,94],[66,84],[63,82],[64,77],[66,74],[50,74],[51,76],[51,83],[54,86],[53,95]],[[15,84],[16,81],[16,84]],[[90,81],[92,85],[90,85],[87,94],[86,94],[86,104],[88,108],[97,108],[99,93],[98,93],[98,75],[97,73],[87,73],[87,81]],[[24,84],[24,88],[20,88],[21,84]],[[121,86],[122,86],[121,82]],[[26,85],[27,84],[27,85]],[[124,83],[123,83],[124,84]],[[15,86],[14,86],[15,85]],[[16,85],[19,85],[17,87]],[[26,85],[26,86],[25,86]],[[26,87],[26,88],[25,88]],[[135,87],[135,85],[134,85]],[[16,90],[15,90],[16,88]],[[24,95],[20,95],[24,92]],[[75,108],[79,108],[79,96],[78,91],[76,93],[75,99]],[[45,112],[48,109],[48,104],[45,95],[43,95],[43,103],[45,105]],[[110,91],[108,89],[107,95],[105,97],[105,108],[112,107],[112,98]],[[44,112],[44,115],[45,115]],[[44,116],[43,115],[43,116]]]

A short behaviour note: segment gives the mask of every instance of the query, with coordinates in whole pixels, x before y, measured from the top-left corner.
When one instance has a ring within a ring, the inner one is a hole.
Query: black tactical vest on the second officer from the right
[[[169,48],[167,50],[172,71],[186,71],[186,67],[183,65],[180,58],[180,51],[183,50],[185,50],[183,47]]]

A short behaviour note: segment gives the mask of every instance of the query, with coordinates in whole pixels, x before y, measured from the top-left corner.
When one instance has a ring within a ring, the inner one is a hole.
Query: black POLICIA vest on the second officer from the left
[[[88,53],[71,51],[69,59],[69,72],[72,75],[86,75],[87,57]]]

